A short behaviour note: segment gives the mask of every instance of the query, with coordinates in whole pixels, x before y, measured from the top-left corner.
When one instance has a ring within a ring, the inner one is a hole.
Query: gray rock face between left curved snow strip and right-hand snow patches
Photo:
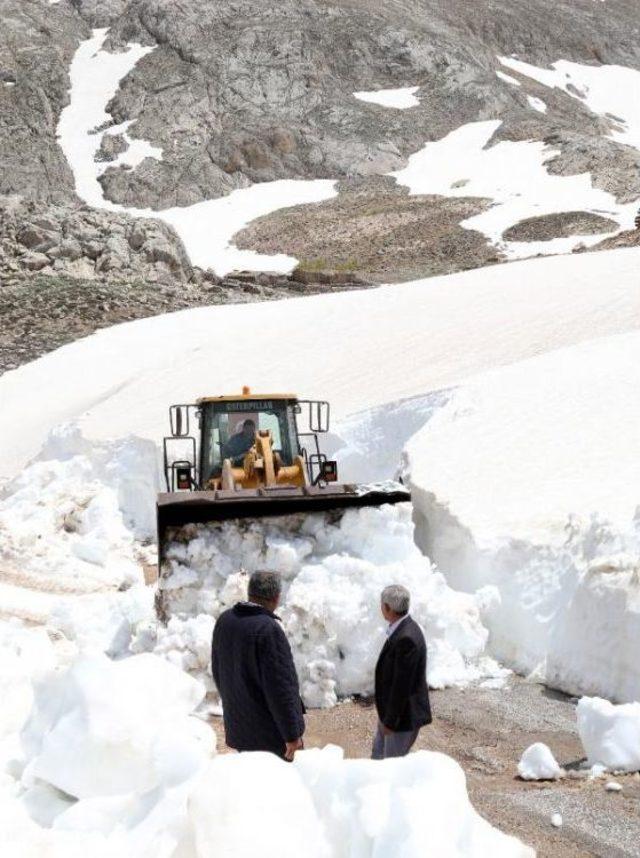
[[[638,153],[603,139],[606,120],[560,90],[495,75],[497,55],[514,53],[540,65],[638,67],[639,18],[630,0],[614,11],[593,0],[189,0],[179,14],[174,0],[132,0],[112,44],[158,47],[111,111],[135,119],[133,133],[164,157],[133,175],[107,171],[103,184],[110,199],[164,208],[250,182],[381,174],[427,140],[499,116],[497,139],[553,138],[558,172],[589,169],[599,187],[640,195]],[[421,104],[409,111],[353,97],[412,85]],[[533,111],[528,94],[542,95],[548,114]]]

